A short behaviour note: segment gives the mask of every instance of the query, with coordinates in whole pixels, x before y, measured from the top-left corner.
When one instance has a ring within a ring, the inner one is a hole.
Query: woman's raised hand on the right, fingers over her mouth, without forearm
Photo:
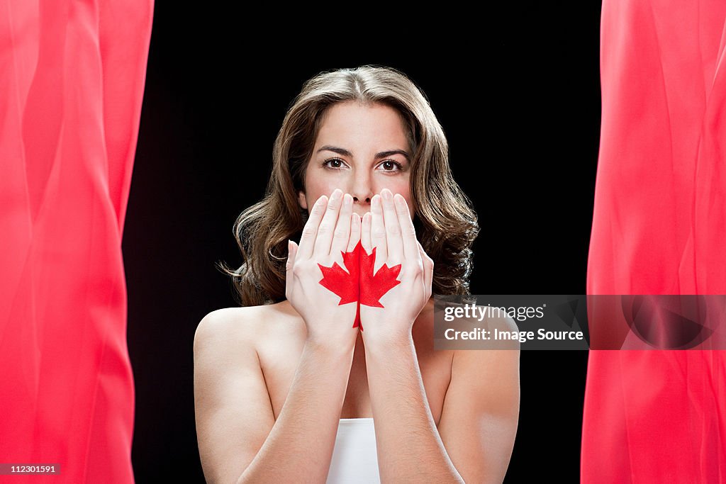
[[[409,338],[417,316],[431,298],[433,261],[416,239],[404,197],[383,189],[371,200],[371,211],[362,220],[361,245],[367,254],[375,247],[373,274],[386,264],[401,264],[393,286],[380,298],[382,308],[361,305],[363,339]],[[361,268],[363,271],[364,268]]]

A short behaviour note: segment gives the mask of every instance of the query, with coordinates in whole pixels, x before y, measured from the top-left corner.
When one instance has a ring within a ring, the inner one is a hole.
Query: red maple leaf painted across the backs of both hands
[[[401,264],[390,268],[383,264],[374,275],[375,247],[373,247],[372,253],[367,254],[360,241],[352,252],[341,252],[341,254],[343,254],[343,263],[348,268],[348,272],[344,271],[337,262],[334,262],[332,267],[318,264],[323,276],[319,284],[340,296],[338,305],[357,301],[353,327],[360,327],[363,331],[360,316],[361,305],[383,308],[380,298],[383,298],[383,295],[391,288],[401,284],[401,281],[396,280],[401,272]]]

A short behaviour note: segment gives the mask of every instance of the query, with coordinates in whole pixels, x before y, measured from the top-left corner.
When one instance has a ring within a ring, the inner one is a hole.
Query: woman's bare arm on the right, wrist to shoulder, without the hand
[[[519,416],[519,350],[457,350],[438,429],[412,338],[367,344],[366,366],[382,482],[502,482]]]

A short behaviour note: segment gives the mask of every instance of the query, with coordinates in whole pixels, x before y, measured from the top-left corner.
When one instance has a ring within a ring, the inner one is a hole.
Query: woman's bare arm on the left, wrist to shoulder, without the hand
[[[252,318],[229,310],[201,321],[194,343],[195,411],[208,483],[325,482],[353,345],[306,343],[285,405],[274,419]],[[258,321],[264,324],[264,321]]]

